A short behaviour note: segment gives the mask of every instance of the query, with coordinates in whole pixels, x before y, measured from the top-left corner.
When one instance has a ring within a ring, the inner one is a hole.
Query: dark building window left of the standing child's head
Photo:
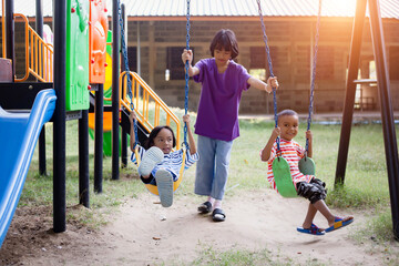
[[[190,48],[194,52],[194,48]],[[182,62],[182,47],[168,47],[166,48],[166,70],[170,80],[184,80],[184,64]],[[193,62],[195,62],[193,57]]]

